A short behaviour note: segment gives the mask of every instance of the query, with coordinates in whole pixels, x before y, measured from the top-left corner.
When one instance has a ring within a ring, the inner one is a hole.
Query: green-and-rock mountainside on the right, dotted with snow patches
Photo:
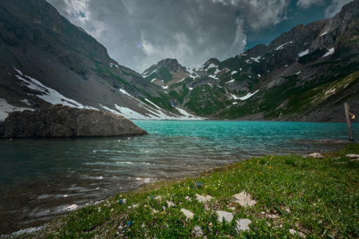
[[[298,25],[166,89],[172,101],[220,119],[343,121],[359,111],[359,1],[327,20]],[[358,120],[357,120],[358,121]]]

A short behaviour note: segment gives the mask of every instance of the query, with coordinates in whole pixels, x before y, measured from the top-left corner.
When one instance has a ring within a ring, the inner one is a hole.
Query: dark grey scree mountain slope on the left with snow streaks
[[[0,1],[0,67],[2,107],[63,103],[134,118],[181,116],[159,86],[116,63],[103,45],[44,0]]]

